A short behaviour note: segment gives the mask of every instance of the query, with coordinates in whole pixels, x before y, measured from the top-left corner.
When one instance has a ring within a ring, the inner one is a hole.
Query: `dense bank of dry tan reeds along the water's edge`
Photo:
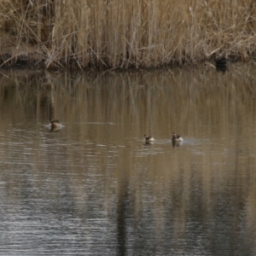
[[[1,66],[161,67],[256,49],[255,1],[3,0]]]

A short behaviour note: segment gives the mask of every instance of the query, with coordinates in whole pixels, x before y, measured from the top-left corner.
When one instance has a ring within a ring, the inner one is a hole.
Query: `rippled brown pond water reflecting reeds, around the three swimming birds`
[[[256,254],[254,63],[0,75],[1,255]]]

